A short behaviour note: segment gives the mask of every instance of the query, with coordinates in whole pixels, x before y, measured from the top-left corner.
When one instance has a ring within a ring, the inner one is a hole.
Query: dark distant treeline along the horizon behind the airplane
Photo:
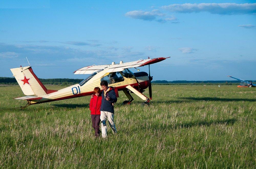
[[[40,78],[39,78],[40,79]],[[74,85],[81,82],[83,79],[67,79],[67,78],[58,78],[58,79],[40,79],[44,85]],[[254,80],[246,80],[252,81]],[[240,81],[238,80],[207,80],[207,81],[188,81],[188,80],[154,80],[152,81],[154,85],[238,85]],[[0,77],[0,85],[18,85],[14,77]]]

